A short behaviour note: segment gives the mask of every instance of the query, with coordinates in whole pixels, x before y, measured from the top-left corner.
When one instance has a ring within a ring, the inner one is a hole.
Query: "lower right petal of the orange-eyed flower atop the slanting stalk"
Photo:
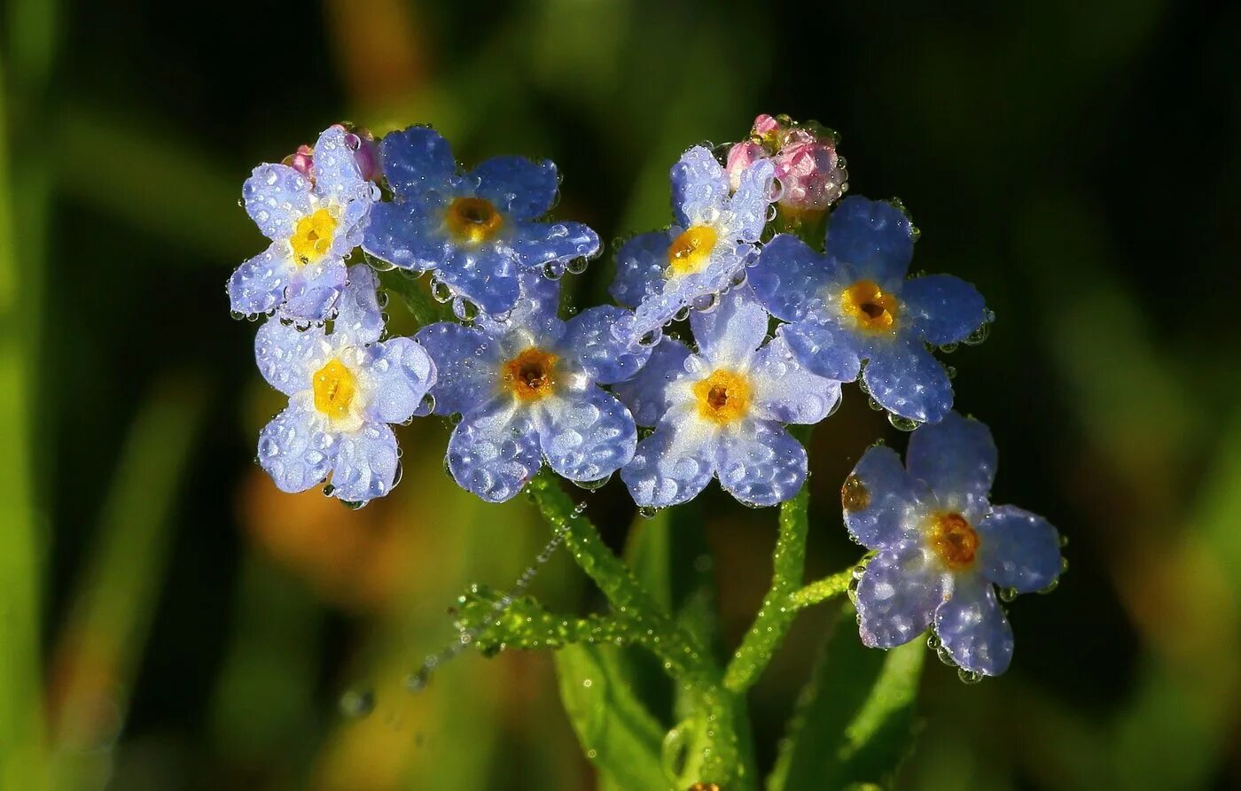
[[[638,429],[616,396],[597,387],[544,402],[539,443],[547,466],[571,481],[604,479],[633,459]]]

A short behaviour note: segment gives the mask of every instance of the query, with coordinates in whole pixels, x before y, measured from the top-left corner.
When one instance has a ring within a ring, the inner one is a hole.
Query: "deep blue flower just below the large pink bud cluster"
[[[870,396],[920,423],[952,408],[952,384],[926,345],[957,343],[987,320],[982,295],[952,275],[905,279],[913,228],[900,208],[850,197],[828,226],[827,255],[779,234],[750,270],[750,284],[784,329],[789,348],[810,371],[853,382],[861,371]]]

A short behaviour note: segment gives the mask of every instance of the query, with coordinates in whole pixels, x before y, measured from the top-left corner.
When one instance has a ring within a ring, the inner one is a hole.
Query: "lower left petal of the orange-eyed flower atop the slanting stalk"
[[[488,502],[516,496],[542,466],[539,433],[509,397],[470,412],[448,440],[448,469],[462,488]]]

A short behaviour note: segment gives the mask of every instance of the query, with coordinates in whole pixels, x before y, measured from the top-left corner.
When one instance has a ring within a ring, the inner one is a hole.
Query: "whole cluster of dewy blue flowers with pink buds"
[[[228,296],[268,317],[256,358],[289,396],[258,460],[282,490],[364,503],[400,479],[388,424],[438,414],[457,419],[449,474],[489,502],[546,465],[587,488],[619,472],[644,511],[711,479],[772,506],[809,471],[787,426],[827,419],[860,379],[916,429],[908,470],[875,448],[845,484],[846,526],[877,552],[855,591],[862,639],[894,646],[933,625],[962,668],[998,673],[1011,632],[994,586],[1046,588],[1060,554],[1040,517],[989,505],[990,435],[952,412],[932,353],[980,340],[993,316],[963,280],[907,276],[918,234],[903,206],[841,200],[845,179],[835,135],[786,117],[758,117],[724,162],[691,148],[671,167],[671,224],[616,253],[618,304],[563,317],[561,275],[601,245],[549,217],[552,162],[465,170],[428,126],[377,141],[331,126],[243,187],[271,244]],[[455,320],[386,337],[376,269],[431,273]]]

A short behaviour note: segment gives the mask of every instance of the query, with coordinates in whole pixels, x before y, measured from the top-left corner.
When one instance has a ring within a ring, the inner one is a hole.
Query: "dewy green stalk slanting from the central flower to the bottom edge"
[[[678,626],[629,567],[608,549],[594,524],[582,516],[555,475],[544,470],[530,481],[526,491],[549,526],[565,533],[565,544],[573,553],[573,559],[599,586],[617,615],[647,632],[649,641],[644,645],[664,662],[664,669],[695,702],[696,729],[701,736],[696,741],[701,756],[696,779],[727,785],[737,791],[755,787],[756,772],[741,759],[737,700],[724,688],[720,671],[711,662],[706,647]]]

